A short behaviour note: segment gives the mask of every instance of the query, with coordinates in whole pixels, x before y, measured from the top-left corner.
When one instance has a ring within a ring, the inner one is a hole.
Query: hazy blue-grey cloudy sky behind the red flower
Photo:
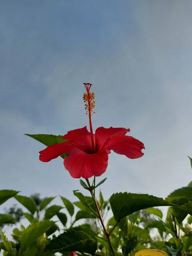
[[[24,135],[64,135],[88,125],[84,82],[96,94],[93,128],[130,128],[146,148],[137,160],[109,155],[97,179],[108,177],[105,198],[121,191],[164,198],[186,186],[191,12],[190,0],[1,0],[0,189],[72,201],[73,189],[84,192],[61,157],[40,162],[44,145]]]

